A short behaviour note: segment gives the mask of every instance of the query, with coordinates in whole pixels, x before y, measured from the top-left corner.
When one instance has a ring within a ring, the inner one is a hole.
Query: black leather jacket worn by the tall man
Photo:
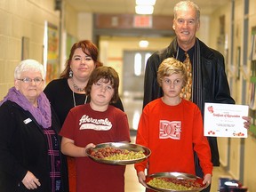
[[[224,57],[220,52],[209,48],[202,41],[199,41],[200,60],[202,68],[202,91],[203,102],[228,103],[234,104],[235,100],[230,96],[228,79],[225,72]],[[172,43],[164,50],[155,52],[147,61],[144,81],[144,100],[143,108],[151,100],[163,96],[161,87],[157,84],[157,69],[162,61],[168,57],[176,57],[177,40],[174,38]],[[200,108],[200,106],[198,106]],[[200,108],[204,116],[204,105]],[[220,156],[217,146],[217,140],[209,137],[209,144],[212,150],[212,164],[220,165]]]

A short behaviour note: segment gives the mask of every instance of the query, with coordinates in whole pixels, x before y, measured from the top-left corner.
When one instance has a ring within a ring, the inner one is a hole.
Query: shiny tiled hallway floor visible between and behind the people
[[[132,100],[132,96],[125,97],[122,99],[124,104],[124,110],[128,116],[129,124],[132,131],[137,129],[137,125],[140,119],[140,113],[142,108],[142,100]],[[133,132],[134,133],[134,132]],[[132,143],[135,141],[135,136],[131,137]],[[211,192],[218,191],[219,178],[229,177],[228,173],[224,171],[221,167],[214,167],[212,176],[212,188]],[[133,165],[126,166],[125,172],[125,192],[142,192],[145,188],[139,183],[137,175]]]

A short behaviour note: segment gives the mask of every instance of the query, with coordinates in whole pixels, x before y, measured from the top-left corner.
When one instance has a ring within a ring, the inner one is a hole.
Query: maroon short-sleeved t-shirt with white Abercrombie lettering
[[[60,135],[85,147],[104,142],[129,141],[130,132],[126,114],[108,106],[104,112],[94,111],[90,104],[72,108],[62,126]],[[124,191],[125,166],[100,164],[89,157],[76,157],[77,192]]]

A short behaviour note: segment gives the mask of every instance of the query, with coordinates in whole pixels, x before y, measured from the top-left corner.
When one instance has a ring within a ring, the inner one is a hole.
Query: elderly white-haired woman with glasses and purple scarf
[[[22,60],[14,86],[0,102],[0,191],[65,190],[60,123],[44,95],[44,68]]]

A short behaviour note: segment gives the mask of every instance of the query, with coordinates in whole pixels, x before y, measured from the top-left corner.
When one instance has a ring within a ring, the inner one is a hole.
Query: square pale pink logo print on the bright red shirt
[[[180,140],[181,122],[160,120],[159,139]]]

